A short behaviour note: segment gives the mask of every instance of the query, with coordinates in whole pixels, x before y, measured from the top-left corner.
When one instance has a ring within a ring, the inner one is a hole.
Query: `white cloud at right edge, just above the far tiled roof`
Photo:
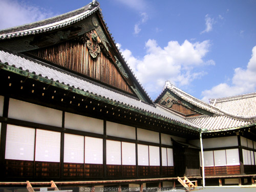
[[[210,90],[202,92],[204,101],[209,98],[219,98],[232,95],[240,95],[256,91],[256,46],[252,48],[252,55],[246,69],[236,68],[231,84],[220,83]]]

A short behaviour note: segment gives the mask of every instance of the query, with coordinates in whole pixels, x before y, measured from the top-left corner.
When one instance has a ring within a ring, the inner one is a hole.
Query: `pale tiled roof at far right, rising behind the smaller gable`
[[[209,99],[212,106],[237,116],[256,117],[256,93]]]

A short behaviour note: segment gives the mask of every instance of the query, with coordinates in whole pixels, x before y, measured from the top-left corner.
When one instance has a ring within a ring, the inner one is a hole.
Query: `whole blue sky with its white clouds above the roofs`
[[[0,29],[91,1],[0,0]],[[256,92],[256,1],[99,0],[104,20],[148,95],[166,80],[208,101]]]

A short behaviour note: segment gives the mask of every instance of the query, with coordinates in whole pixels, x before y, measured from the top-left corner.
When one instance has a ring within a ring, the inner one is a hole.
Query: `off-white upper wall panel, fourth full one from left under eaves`
[[[153,132],[153,131],[148,131],[148,130],[143,130],[143,129],[138,128],[137,135],[138,135],[138,140],[140,140],[140,141],[159,143],[159,133],[158,132]]]

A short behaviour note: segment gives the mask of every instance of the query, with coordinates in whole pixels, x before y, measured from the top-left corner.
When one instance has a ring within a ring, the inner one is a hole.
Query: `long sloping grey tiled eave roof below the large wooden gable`
[[[163,109],[161,106],[155,106],[141,102],[137,98],[118,93],[115,90],[101,86],[101,84],[91,82],[86,78],[74,76],[71,73],[54,68],[47,63],[37,61],[35,59],[28,59],[23,55],[16,55],[2,50],[0,50],[0,60],[2,63],[7,62],[9,66],[13,66],[15,68],[36,75],[40,74],[40,76],[47,77],[47,79],[51,79],[52,81],[61,82],[62,84],[66,84],[70,87],[84,90],[84,92],[89,92],[99,97],[122,103],[126,106],[130,106],[131,108],[146,111],[159,117],[170,119],[174,122],[189,126],[193,129],[200,128],[199,126],[185,120],[179,115],[170,113],[169,111]]]

